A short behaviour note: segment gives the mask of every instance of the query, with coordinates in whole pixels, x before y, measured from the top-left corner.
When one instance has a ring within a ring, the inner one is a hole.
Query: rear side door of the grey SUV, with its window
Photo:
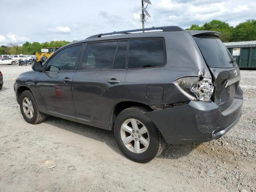
[[[78,122],[109,129],[112,109],[122,102],[128,41],[87,44],[73,79]]]

